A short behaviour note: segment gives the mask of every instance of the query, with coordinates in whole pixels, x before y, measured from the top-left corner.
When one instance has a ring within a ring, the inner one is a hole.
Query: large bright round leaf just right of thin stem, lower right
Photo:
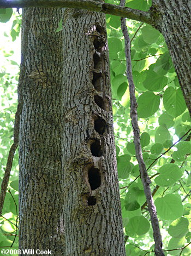
[[[165,220],[175,220],[182,217],[183,206],[180,196],[167,194],[165,197],[158,197],[154,204],[160,218]]]

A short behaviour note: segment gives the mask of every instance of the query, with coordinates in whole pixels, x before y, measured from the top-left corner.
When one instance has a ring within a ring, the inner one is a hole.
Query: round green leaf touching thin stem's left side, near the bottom
[[[126,234],[128,236],[141,236],[148,232],[150,229],[149,221],[143,216],[135,216],[129,219],[129,223],[126,226]]]

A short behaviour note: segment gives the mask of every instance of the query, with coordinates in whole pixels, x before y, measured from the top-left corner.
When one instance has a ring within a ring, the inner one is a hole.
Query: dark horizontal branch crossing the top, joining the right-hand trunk
[[[122,7],[120,5],[101,3],[97,1],[80,1],[80,0],[1,0],[0,8],[25,8],[25,7],[54,7],[54,8],[75,8],[85,9],[94,12],[102,12],[120,17],[125,17],[132,20],[146,22],[154,25],[151,21],[149,12],[144,12],[137,9]]]

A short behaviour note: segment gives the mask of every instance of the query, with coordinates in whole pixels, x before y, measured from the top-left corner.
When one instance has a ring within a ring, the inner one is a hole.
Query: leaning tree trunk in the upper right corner
[[[191,4],[184,0],[153,0],[151,15],[163,34],[191,116]]]

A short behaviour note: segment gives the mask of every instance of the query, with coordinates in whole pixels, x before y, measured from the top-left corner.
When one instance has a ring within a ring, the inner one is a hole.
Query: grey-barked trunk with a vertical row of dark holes
[[[126,255],[104,14],[64,12],[65,255]]]

